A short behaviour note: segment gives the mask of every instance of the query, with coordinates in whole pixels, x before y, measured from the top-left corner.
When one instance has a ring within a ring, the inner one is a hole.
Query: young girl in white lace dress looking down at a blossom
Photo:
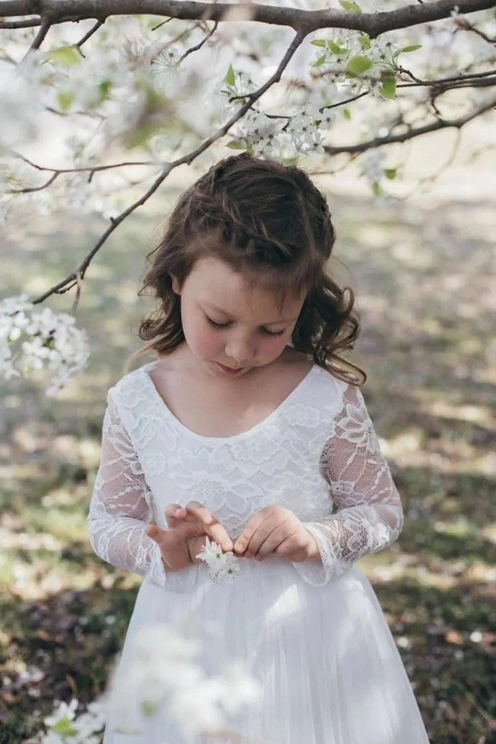
[[[239,734],[428,744],[357,566],[398,539],[403,514],[365,376],[340,356],[359,325],[328,275],[333,244],[296,167],[230,157],[180,197],[144,279],[159,307],[140,337],[158,359],[109,391],[89,532],[102,559],[144,577],[127,639],[188,612],[222,623],[264,691]],[[207,536],[240,557],[232,583],[197,558]],[[115,725],[105,744],[181,741],[173,725],[153,740]]]

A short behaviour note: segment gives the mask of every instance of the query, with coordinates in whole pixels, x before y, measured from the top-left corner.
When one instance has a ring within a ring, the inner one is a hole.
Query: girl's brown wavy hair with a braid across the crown
[[[313,356],[334,376],[361,385],[366,374],[340,354],[352,349],[360,330],[352,289],[328,275],[335,234],[322,193],[304,171],[243,153],[225,158],[179,197],[159,246],[147,256],[139,295],[150,288],[158,309],[142,321],[145,351],[162,356],[184,341],[179,285],[205,256],[227,263],[249,286],[291,292],[305,301],[291,336],[296,350]]]

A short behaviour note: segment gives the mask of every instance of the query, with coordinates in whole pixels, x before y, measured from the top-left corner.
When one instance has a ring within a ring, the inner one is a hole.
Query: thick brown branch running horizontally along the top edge
[[[68,19],[104,19],[121,15],[168,16],[187,21],[239,21],[246,11],[247,19],[267,25],[290,26],[311,33],[319,28],[347,28],[368,33],[375,38],[381,33],[408,28],[448,18],[454,8],[462,15],[494,7],[494,0],[435,0],[407,5],[381,13],[348,13],[343,10],[299,10],[252,3],[193,2],[190,0],[0,0],[0,17],[49,16],[52,23]],[[0,23],[1,28],[1,23]]]

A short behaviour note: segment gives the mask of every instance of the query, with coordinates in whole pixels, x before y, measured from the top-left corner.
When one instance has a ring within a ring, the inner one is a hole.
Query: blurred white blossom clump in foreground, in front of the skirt
[[[200,638],[186,623],[158,624],[130,639],[109,684],[109,725],[150,734],[163,730],[166,719],[188,739],[222,730],[229,716],[255,704],[258,682],[237,661],[220,663],[223,654],[211,653],[205,634],[204,628]]]

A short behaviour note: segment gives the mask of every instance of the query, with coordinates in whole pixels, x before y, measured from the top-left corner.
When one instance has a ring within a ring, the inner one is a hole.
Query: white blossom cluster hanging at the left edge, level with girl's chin
[[[0,301],[0,375],[30,376],[46,367],[51,373],[47,395],[53,396],[86,368],[88,337],[73,315],[35,307],[28,295]]]

